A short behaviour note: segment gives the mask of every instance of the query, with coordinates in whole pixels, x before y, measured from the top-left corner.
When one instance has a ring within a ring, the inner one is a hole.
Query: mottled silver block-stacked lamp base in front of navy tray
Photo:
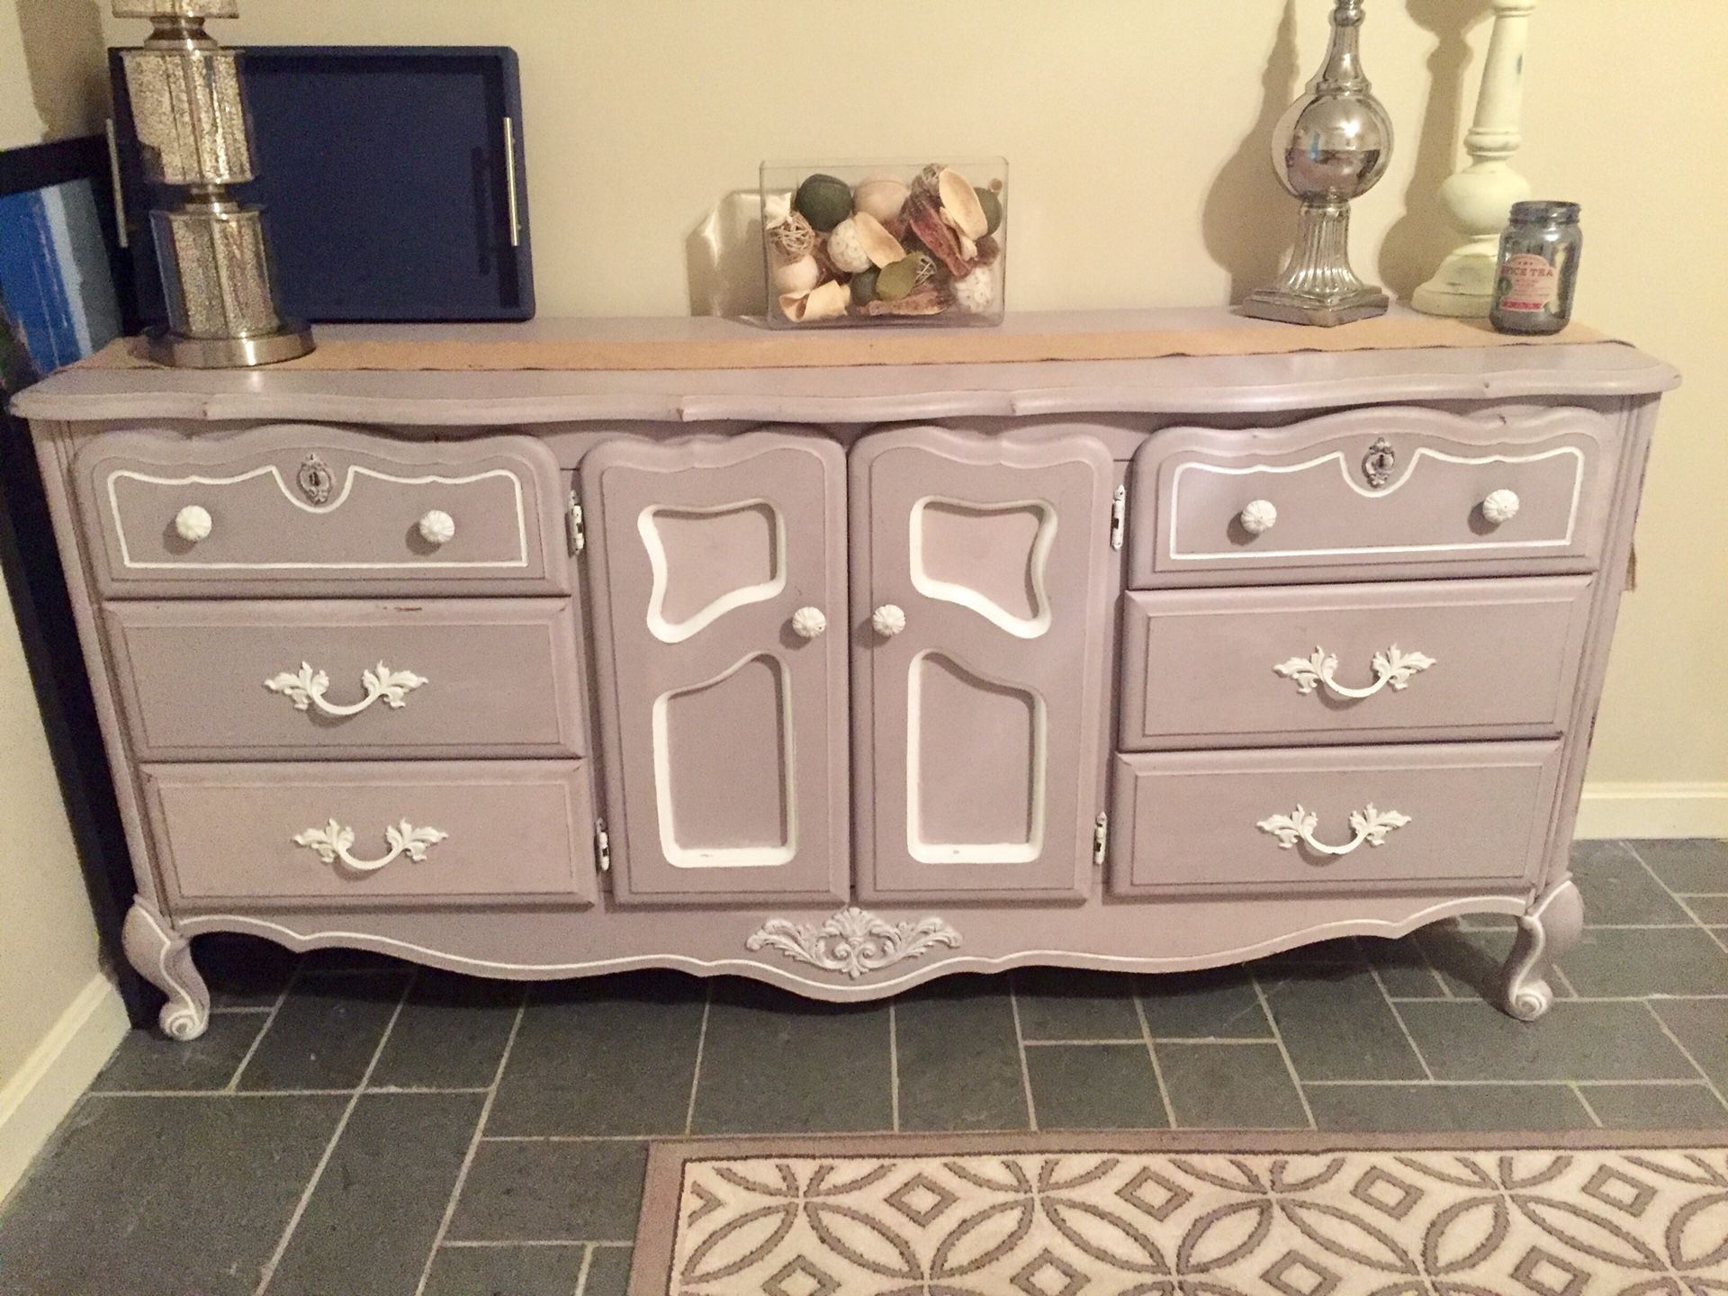
[[[276,313],[263,211],[228,194],[254,176],[252,142],[238,54],[204,21],[238,12],[238,0],[114,0],[114,17],[152,24],[140,48],[121,52],[145,176],[185,190],[150,213],[168,328],[145,340],[164,365],[242,368],[313,349],[311,330]]]

